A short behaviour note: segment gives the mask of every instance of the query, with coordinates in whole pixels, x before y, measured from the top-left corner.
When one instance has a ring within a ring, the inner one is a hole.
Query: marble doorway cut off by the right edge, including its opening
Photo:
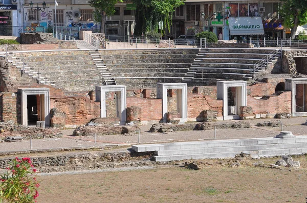
[[[284,90],[292,92],[292,95],[291,95],[292,116],[293,117],[307,116],[307,106],[306,106],[307,105],[307,78],[286,79]]]

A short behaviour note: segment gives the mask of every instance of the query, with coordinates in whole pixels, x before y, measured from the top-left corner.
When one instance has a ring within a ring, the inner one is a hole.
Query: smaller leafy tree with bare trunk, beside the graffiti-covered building
[[[95,8],[94,16],[96,21],[101,22],[100,33],[104,33],[105,17],[111,16],[115,13],[115,4],[122,2],[122,0],[91,0],[89,3],[91,7]]]

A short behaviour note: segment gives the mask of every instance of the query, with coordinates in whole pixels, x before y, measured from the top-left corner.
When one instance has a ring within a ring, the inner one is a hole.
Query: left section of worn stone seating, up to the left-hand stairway
[[[89,50],[14,53],[8,61],[37,83],[75,92],[94,90],[96,85],[102,85],[102,73],[98,69],[101,65],[93,56],[89,55]]]

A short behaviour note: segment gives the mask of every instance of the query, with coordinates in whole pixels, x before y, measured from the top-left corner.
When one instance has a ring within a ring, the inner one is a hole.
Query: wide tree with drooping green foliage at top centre
[[[185,0],[133,0],[137,6],[135,35],[165,28],[170,30],[174,9],[183,5]]]

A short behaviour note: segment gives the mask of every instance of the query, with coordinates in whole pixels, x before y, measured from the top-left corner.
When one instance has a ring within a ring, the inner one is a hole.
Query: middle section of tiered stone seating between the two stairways
[[[122,50],[111,56],[106,52],[101,56],[118,84],[152,88],[161,82],[181,82],[198,50]]]

